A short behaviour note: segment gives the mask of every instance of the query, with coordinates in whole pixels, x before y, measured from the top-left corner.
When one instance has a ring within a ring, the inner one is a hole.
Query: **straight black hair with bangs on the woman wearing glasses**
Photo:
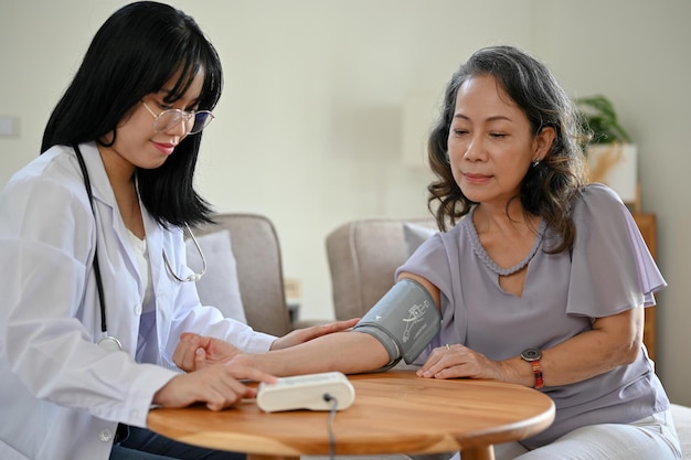
[[[173,103],[200,71],[204,83],[199,109],[212,110],[221,97],[223,71],[216,50],[196,22],[153,1],[123,7],[94,36],[47,121],[41,152],[56,145],[104,145],[100,139],[109,132],[115,142],[118,122],[143,96],[158,93],[179,74],[166,97]],[[187,136],[161,167],[135,172],[141,202],[164,226],[211,222],[211,207],[193,186],[201,139],[201,132]]]

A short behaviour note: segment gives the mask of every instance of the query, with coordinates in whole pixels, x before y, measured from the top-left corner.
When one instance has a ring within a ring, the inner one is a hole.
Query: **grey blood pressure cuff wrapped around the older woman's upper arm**
[[[390,362],[381,371],[419,356],[439,332],[442,317],[434,299],[419,282],[404,278],[396,282],[355,324],[354,331],[379,340]]]

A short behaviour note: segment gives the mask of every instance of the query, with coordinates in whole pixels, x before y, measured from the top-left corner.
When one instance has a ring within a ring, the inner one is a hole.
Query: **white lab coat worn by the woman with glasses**
[[[73,149],[55,147],[18,172],[0,195],[0,459],[106,460],[118,422],[146,427],[153,394],[179,370],[180,333],[224,338],[248,352],[275,339],[202,307],[182,233],[146,213],[156,296],[158,362],[135,362],[143,299],[141,278],[100,156],[81,146],[98,225]],[[107,325],[124,352],[106,352],[93,275],[94,244]],[[156,338],[150,338],[156,340]],[[158,365],[157,365],[158,364]]]

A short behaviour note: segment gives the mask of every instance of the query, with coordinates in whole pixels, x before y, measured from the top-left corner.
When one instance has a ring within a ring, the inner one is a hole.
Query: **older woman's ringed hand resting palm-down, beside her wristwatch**
[[[464,345],[444,345],[429,353],[427,361],[416,371],[428,378],[493,378],[507,381],[502,362],[492,361]]]

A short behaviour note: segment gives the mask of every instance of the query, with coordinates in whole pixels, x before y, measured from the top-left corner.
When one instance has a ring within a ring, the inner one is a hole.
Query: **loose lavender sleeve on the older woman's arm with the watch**
[[[667,286],[628,208],[608,188],[591,184],[574,203],[567,312],[602,318],[655,304]]]

